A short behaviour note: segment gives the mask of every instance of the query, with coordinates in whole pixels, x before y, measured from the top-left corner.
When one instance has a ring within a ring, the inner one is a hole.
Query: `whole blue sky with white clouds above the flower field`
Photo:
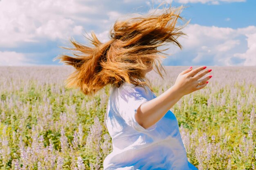
[[[65,3],[63,3],[65,2]],[[63,65],[54,57],[67,53],[69,38],[88,44],[85,31],[102,42],[115,20],[128,13],[146,13],[162,0],[0,0],[0,66]],[[167,0],[184,5],[191,19],[170,44],[165,66],[256,66],[255,0]]]

